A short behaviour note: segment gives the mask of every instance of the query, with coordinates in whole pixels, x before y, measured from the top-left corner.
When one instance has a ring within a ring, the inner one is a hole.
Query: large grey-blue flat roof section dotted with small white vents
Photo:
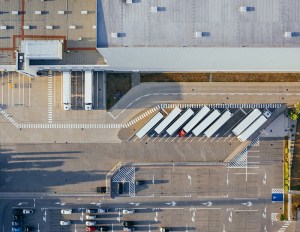
[[[98,47],[299,46],[299,0],[97,1]],[[240,7],[250,10],[241,12]],[[154,12],[152,9],[156,8]],[[203,32],[196,37],[196,32]],[[298,36],[287,38],[285,32]],[[112,36],[114,33],[114,36]],[[116,34],[117,33],[117,34]],[[298,38],[297,38],[298,37]]]

